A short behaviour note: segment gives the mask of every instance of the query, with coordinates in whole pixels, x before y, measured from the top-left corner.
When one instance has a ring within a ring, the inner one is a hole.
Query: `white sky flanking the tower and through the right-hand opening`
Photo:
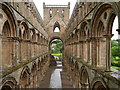
[[[77,0],[33,0],[41,17],[43,18],[43,2],[45,2],[46,5],[68,5],[68,2],[70,2],[70,15],[72,14],[74,5]],[[112,33],[114,36],[113,39],[118,39],[118,33],[116,31],[118,29],[118,17],[115,18],[113,27],[112,27]]]

